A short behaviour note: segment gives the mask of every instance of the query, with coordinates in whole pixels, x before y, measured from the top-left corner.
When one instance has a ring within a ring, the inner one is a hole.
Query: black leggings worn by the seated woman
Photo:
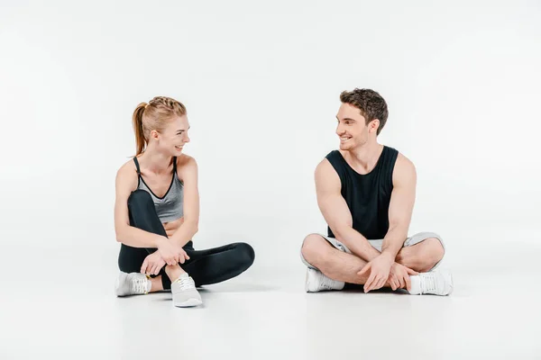
[[[150,193],[135,190],[128,199],[128,210],[130,225],[167,237]],[[195,250],[190,240],[183,248],[189,260],[180,266],[194,279],[196,286],[220,283],[240,275],[252,266],[255,258],[253,248],[245,243]],[[122,244],[118,255],[118,267],[124,273],[139,273],[144,258],[156,250]],[[165,274],[165,266],[161,268],[160,275],[163,288],[170,289],[171,281]]]

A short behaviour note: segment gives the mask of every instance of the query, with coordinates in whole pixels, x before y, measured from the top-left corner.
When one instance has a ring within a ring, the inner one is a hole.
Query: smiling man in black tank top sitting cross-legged
[[[417,175],[407,157],[377,141],[387,103],[370,89],[343,92],[340,100],[340,150],[315,175],[328,233],[308,235],[301,248],[307,292],[342,290],[347,283],[363,284],[364,293],[381,287],[452,293],[451,274],[431,271],[444,257],[442,238],[431,232],[408,238]]]

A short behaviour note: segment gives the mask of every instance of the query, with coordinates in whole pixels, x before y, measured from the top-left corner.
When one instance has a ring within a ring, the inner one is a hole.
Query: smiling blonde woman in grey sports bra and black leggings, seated
[[[115,232],[121,242],[116,295],[170,289],[179,307],[202,303],[196,287],[240,275],[253,248],[234,243],[194,250],[199,193],[197,163],[182,153],[189,142],[182,103],[155,97],[133,112],[137,153],[116,175]]]

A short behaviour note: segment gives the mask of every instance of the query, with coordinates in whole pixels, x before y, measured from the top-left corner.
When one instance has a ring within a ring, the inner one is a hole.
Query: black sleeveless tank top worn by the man
[[[396,149],[384,146],[376,166],[366,175],[353,170],[338,150],[326,156],[340,176],[342,196],[352,213],[353,229],[365,238],[384,238],[389,230],[392,171],[398,155]],[[335,238],[331,228],[327,229],[328,236]]]

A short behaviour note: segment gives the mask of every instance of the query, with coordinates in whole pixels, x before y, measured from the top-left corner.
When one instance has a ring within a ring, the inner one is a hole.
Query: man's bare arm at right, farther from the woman
[[[416,196],[417,172],[408,157],[399,154],[392,174],[392,184],[389,230],[383,238],[381,254],[386,254],[394,260],[408,238],[409,222]]]

